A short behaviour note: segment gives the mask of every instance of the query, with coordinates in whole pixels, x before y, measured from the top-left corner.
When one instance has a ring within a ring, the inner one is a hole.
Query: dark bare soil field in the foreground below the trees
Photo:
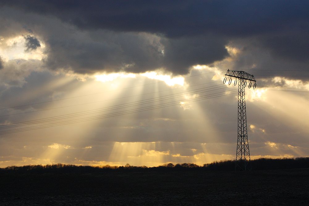
[[[0,175],[0,205],[307,205],[309,202],[309,169]]]

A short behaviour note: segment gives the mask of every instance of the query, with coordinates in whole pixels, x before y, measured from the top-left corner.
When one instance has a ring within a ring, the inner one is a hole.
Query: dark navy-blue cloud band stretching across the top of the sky
[[[308,27],[308,1],[4,1],[55,15],[86,29],[161,32],[185,36],[220,32],[248,35]],[[288,28],[286,28],[288,29]]]

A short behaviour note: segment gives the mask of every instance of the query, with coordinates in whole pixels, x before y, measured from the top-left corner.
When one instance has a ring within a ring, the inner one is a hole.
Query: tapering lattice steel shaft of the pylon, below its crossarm
[[[235,170],[251,170],[249,143],[247,136],[244,83],[245,81],[242,78],[238,78],[238,137]]]

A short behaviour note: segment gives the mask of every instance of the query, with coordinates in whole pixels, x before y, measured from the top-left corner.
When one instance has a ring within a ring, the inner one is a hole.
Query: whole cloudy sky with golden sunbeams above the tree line
[[[308,1],[0,2],[0,167],[309,156]],[[252,82],[254,83],[254,82]]]

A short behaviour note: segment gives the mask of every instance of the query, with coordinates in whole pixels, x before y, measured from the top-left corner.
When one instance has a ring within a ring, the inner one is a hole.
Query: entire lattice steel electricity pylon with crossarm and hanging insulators
[[[235,77],[234,86],[238,82],[238,137],[236,149],[236,165],[235,170],[251,170],[249,143],[247,135],[247,117],[246,117],[246,101],[245,101],[245,87],[247,81],[250,81],[248,88],[251,88],[251,81],[256,82],[253,75],[243,71],[230,71],[227,69],[225,76],[230,76],[229,85],[232,83],[232,77]],[[226,77],[223,84],[226,82]],[[256,88],[256,83],[253,89]]]

